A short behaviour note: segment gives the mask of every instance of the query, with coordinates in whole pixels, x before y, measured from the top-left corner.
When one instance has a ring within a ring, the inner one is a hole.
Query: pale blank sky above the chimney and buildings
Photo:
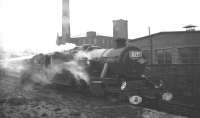
[[[6,50],[48,50],[61,34],[61,0],[0,0],[0,46]],[[87,31],[112,36],[116,19],[128,20],[134,39],[162,31],[200,26],[198,0],[70,0],[71,36]],[[199,28],[197,27],[197,30]]]

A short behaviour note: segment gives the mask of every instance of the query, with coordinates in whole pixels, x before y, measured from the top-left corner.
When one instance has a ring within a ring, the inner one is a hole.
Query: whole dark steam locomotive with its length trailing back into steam
[[[65,53],[37,55],[32,58],[32,62],[43,60],[39,65],[48,67],[55,60],[61,60],[61,64],[74,60],[78,53],[87,55],[79,58],[78,63],[89,74],[89,82],[80,80],[79,84],[75,84],[74,76],[66,70],[56,74],[54,82],[84,88],[96,96],[106,96],[115,101],[129,100],[135,105],[142,103],[144,99],[170,101],[173,97],[163,89],[162,82],[156,84],[145,75],[146,60],[137,47],[101,49],[85,45]]]

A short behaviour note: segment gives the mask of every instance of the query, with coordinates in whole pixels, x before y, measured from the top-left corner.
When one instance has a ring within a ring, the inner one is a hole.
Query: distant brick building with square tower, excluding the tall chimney
[[[102,48],[115,48],[116,39],[123,38],[128,39],[128,21],[126,20],[114,20],[113,21],[113,37],[97,35],[94,31],[89,31],[86,37],[74,37],[71,38],[71,43],[76,45],[92,44]]]

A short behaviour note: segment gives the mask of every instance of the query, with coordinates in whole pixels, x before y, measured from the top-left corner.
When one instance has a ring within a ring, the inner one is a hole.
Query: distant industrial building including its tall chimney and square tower
[[[62,0],[62,36],[57,35],[56,44],[74,43],[76,45],[92,44],[102,48],[116,47],[116,39],[128,39],[128,21],[113,20],[113,37],[97,35],[95,31],[87,32],[85,37],[71,37],[69,0]]]

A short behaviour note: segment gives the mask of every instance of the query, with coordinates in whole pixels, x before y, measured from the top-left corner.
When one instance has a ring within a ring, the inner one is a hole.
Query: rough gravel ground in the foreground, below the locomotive
[[[29,86],[18,78],[0,80],[0,118],[182,118],[103,98],[72,92],[63,86]]]

